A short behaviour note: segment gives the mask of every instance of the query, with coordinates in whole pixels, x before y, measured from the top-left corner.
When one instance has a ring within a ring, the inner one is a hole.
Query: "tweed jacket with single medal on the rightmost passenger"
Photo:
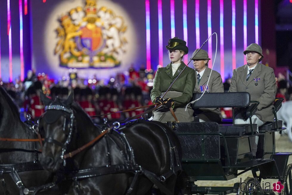
[[[247,66],[233,70],[229,92],[248,92],[252,101],[260,102],[255,113],[257,117],[263,121],[274,121],[273,101],[277,92],[274,70],[258,63],[246,81]],[[255,85],[255,79],[260,79],[258,85]]]

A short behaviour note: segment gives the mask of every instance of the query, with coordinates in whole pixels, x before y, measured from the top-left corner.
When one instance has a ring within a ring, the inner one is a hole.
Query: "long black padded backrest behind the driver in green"
[[[193,93],[192,101],[202,93]],[[248,92],[205,93],[201,99],[192,104],[192,108],[246,107],[250,103]]]

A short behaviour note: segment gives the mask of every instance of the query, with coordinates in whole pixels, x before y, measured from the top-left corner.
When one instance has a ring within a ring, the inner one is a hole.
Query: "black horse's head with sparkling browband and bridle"
[[[73,93],[65,100],[58,97],[51,100],[41,93],[41,100],[46,112],[39,122],[39,130],[44,138],[40,162],[45,169],[56,172],[62,163],[66,165],[63,157],[74,139]]]

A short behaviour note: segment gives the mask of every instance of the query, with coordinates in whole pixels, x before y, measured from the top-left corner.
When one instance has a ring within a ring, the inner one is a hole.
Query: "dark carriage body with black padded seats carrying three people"
[[[193,100],[201,94],[194,94]],[[278,102],[279,101],[279,102]],[[258,179],[284,179],[288,158],[292,153],[275,152],[275,132],[284,130],[277,120],[281,100],[275,102],[276,120],[259,128],[255,124],[234,125],[234,120],[216,122],[175,123],[168,125],[175,130],[183,149],[183,169],[188,176],[188,191],[193,194],[237,193],[239,183],[233,187],[198,187],[196,180],[229,180],[251,170]],[[206,93],[193,108],[247,107],[251,117],[258,103],[250,101],[246,92]],[[234,110],[234,109],[233,109]],[[234,116],[234,111],[233,111]],[[251,152],[251,137],[259,136],[257,158]],[[256,169],[260,171],[257,176]]]

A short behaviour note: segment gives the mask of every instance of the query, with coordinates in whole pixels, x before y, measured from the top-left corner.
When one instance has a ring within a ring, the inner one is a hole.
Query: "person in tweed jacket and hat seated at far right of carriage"
[[[252,116],[252,123],[259,127],[265,122],[274,121],[273,101],[277,91],[275,74],[271,67],[259,63],[264,56],[258,44],[250,44],[243,53],[246,55],[247,64],[233,71],[229,92],[246,91],[251,95],[252,101],[260,102],[255,115]],[[241,114],[235,116],[234,123],[249,123],[249,120],[241,117]],[[252,145],[253,156],[256,151],[256,145]]]

